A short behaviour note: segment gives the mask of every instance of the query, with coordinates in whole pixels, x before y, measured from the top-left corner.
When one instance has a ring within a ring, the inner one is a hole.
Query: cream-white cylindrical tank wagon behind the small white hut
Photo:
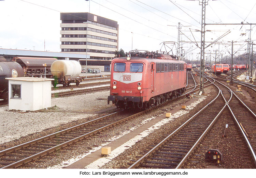
[[[57,84],[69,86],[70,83],[79,85],[82,78],[79,76],[82,67],[79,62],[73,60],[57,60],[52,63],[51,72],[55,79],[52,84],[55,87]]]

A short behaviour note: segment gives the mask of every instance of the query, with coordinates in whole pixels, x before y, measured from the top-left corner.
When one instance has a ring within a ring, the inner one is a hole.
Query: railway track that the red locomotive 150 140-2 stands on
[[[87,123],[83,123],[36,140],[14,146],[12,148],[2,150],[0,151],[0,167],[33,167],[34,165],[31,163],[31,161],[45,155],[50,155],[51,152],[74,144],[82,139],[89,138],[91,135],[116,126],[133,117],[150,112],[153,109],[164,106],[171,101],[175,101],[176,99],[179,98],[175,98],[156,107],[135,114],[135,111],[119,111],[98,119],[91,120]]]

